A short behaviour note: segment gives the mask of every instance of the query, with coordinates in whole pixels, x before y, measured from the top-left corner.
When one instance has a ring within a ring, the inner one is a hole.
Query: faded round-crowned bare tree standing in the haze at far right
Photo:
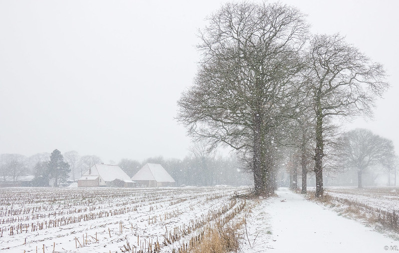
[[[358,171],[358,187],[362,188],[362,175],[373,165],[388,165],[395,158],[395,148],[391,140],[373,134],[367,129],[355,129],[342,137],[346,145],[342,147],[342,158],[346,165]]]

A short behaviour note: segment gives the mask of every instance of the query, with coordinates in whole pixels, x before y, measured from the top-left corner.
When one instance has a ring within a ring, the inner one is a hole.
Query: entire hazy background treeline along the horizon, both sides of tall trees
[[[288,144],[278,148],[276,153],[279,156],[275,156],[280,163],[278,169],[287,171],[291,188],[298,188],[298,179],[301,177],[302,190],[306,192],[307,175],[312,173],[315,163],[311,157],[312,150],[313,148],[304,149],[295,145],[289,147]],[[145,163],[158,163],[175,178],[178,186],[252,185],[253,181],[248,173],[242,172],[240,161],[236,157],[216,157],[216,152],[209,151],[204,142],[197,143],[191,151],[192,154],[183,160],[155,157],[140,163],[136,160],[122,159],[118,166],[132,177]],[[40,157],[43,160],[37,161],[30,170],[35,175],[34,186],[57,186],[66,179],[74,181],[75,176],[80,177],[94,163],[101,162],[97,156],[79,157],[76,151],[66,152],[64,156],[58,150],[54,150],[48,157],[42,154],[40,153]],[[330,185],[353,185],[353,182],[357,181],[358,187],[362,188],[364,174],[368,174],[368,184],[373,184],[381,174],[388,176],[388,185],[391,185],[392,176],[393,184],[397,184],[398,158],[394,145],[391,140],[375,135],[370,130],[356,129],[339,135],[334,149],[328,154],[329,164],[324,168],[330,172],[330,177],[325,178],[329,180]],[[20,175],[28,173],[26,165],[35,157],[39,156],[25,158],[18,154],[0,155],[0,181],[16,182]],[[82,169],[82,166],[85,169]],[[73,167],[75,171],[71,169]],[[285,184],[284,178],[279,181],[280,184]]]

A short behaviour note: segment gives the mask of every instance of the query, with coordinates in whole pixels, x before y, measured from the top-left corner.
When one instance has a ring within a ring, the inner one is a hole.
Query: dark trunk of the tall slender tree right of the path
[[[315,149],[315,174],[316,174],[316,198],[322,197],[323,188],[323,112],[321,106],[316,111],[316,149]]]

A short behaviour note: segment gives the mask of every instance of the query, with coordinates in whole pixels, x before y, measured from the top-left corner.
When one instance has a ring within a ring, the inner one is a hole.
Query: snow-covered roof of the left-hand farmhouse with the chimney
[[[119,179],[124,182],[132,182],[130,177],[119,166],[116,165],[95,164],[90,168],[90,170],[83,173],[80,180],[85,180],[88,176],[100,176],[105,182],[114,181],[115,179]]]

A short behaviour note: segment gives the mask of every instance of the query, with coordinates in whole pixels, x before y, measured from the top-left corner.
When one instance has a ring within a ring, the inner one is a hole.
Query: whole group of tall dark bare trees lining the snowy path
[[[256,195],[274,193],[282,154],[295,148],[302,177],[313,164],[321,197],[333,120],[371,115],[389,86],[382,64],[339,34],[310,34],[305,17],[282,3],[224,4],[200,31],[199,70],[178,101],[189,134],[237,151]]]

